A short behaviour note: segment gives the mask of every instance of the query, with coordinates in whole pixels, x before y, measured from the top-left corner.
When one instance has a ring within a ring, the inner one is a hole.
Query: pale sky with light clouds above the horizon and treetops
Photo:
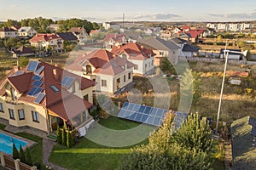
[[[0,20],[42,16],[126,21],[256,20],[255,0],[0,0]]]

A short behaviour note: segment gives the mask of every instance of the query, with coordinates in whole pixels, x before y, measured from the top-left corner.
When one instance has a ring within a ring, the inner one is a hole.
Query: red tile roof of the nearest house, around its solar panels
[[[32,83],[34,82],[34,80],[32,80],[32,77],[34,77],[35,72],[26,71],[26,67],[20,70],[20,71],[24,71],[23,74],[21,72],[20,75],[14,76],[15,71],[13,70],[9,73],[9,75],[5,79],[3,79],[2,82],[0,82],[0,95],[5,94],[4,85],[7,82],[9,82],[20,94],[22,94],[18,100],[32,103],[33,105],[41,105],[41,106],[44,106],[44,108],[50,108],[50,107],[58,108],[57,106],[55,106],[55,104],[60,105],[59,103],[60,102],[63,103],[63,99],[66,99],[66,98],[76,99],[76,97],[73,97],[74,94],[70,94],[67,91],[67,88],[61,86],[62,77],[65,77],[65,76],[73,77],[74,81],[79,82],[79,89],[81,90],[95,86],[95,82],[90,81],[89,79],[86,79],[84,77],[79,77],[78,75],[75,75],[71,72],[64,71],[63,69],[56,67],[54,65],[49,65],[44,62],[39,62],[38,67],[39,66],[41,67],[44,66],[44,69],[43,71],[41,71],[39,76],[42,76],[41,81],[43,82],[40,88],[43,88],[42,93],[46,94],[44,99],[39,104],[34,103],[36,99],[35,97],[27,95],[28,92],[33,88]],[[57,77],[54,76],[54,71],[56,71]],[[56,88],[60,90],[60,92],[55,93],[49,87],[50,85],[54,85]],[[82,100],[84,104],[86,104],[85,105],[86,107],[91,106],[91,104],[88,101],[84,101],[84,99]],[[66,104],[68,106],[73,104],[72,101],[70,102],[71,102],[70,104],[68,103]],[[63,115],[62,112],[56,111],[55,113],[61,116],[62,118],[64,118],[65,120],[67,120],[66,119],[67,117],[65,117],[65,115]],[[73,114],[78,114],[78,112]]]

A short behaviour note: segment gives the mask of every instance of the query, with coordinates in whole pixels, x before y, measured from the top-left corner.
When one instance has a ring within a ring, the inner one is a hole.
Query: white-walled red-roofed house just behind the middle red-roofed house
[[[147,75],[154,71],[154,53],[138,43],[127,43],[125,46],[116,46],[113,54],[125,55],[134,64],[133,72],[139,75]]]

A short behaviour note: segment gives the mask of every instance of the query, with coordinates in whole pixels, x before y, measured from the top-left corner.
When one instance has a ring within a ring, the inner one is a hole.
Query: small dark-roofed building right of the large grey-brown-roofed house
[[[194,57],[200,50],[197,46],[191,45],[190,42],[179,37],[172,38],[171,41],[180,48],[179,57]]]

